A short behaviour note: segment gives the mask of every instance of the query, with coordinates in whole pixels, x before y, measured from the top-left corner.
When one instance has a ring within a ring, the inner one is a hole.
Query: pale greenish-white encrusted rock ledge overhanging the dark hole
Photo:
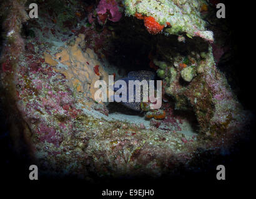
[[[185,32],[187,37],[199,36],[209,42],[214,37],[211,31],[205,29],[205,21],[200,17],[200,7],[206,2],[200,1],[168,1],[149,0],[137,1],[126,0],[127,16],[135,16],[137,13],[155,19],[160,25],[168,27],[164,30],[166,34],[179,34]],[[151,20],[152,21],[152,20]],[[154,22],[155,24],[155,22]],[[159,27],[159,25],[157,25]],[[157,29],[159,32],[160,27]],[[156,30],[153,32],[155,33]]]

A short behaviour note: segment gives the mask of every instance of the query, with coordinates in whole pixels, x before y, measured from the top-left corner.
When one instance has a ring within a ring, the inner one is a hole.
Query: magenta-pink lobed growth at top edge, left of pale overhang
[[[121,19],[122,14],[119,12],[119,7],[115,0],[101,0],[97,6],[98,21],[103,24],[106,19],[112,22],[117,22]]]

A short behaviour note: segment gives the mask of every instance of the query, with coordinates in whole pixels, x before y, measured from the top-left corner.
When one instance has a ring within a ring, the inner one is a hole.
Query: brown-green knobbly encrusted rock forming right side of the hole
[[[205,58],[202,60],[197,56],[199,60],[196,61],[192,56],[189,61],[192,65],[189,67],[183,67],[185,58],[178,55],[174,58],[173,66],[166,69],[169,73],[164,77],[164,89],[175,99],[175,109],[191,106],[197,116],[200,130],[205,133],[220,133],[237,123],[243,123],[245,115],[224,75],[215,67],[212,48],[209,47],[209,52],[203,55]],[[181,85],[180,77],[190,82],[189,85]]]

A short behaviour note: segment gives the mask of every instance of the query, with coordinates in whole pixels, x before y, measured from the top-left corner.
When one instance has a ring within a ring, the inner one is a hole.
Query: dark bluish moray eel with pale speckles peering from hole
[[[129,80],[146,80],[149,83],[149,80],[154,80],[155,79],[155,73],[154,72],[150,72],[150,71],[146,71],[146,70],[141,70],[141,71],[132,71],[129,72],[126,78],[122,78],[121,80],[126,81],[127,84],[127,102],[121,102],[124,106],[126,106],[127,108],[133,109],[134,111],[141,111],[140,110],[140,102],[135,102],[135,86],[134,86],[134,102],[129,102]],[[116,92],[117,90],[119,90],[121,88],[121,86],[119,88],[114,88],[114,91]],[[142,95],[141,95],[141,99],[142,99]]]

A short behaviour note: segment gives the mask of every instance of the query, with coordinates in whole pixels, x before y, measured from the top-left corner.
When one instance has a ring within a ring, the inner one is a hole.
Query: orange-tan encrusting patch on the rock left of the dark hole
[[[84,93],[84,96],[94,99],[94,94],[97,88],[94,88],[94,83],[97,80],[109,82],[109,74],[104,70],[102,63],[97,60],[97,55],[91,49],[82,51],[84,47],[85,35],[79,34],[73,45],[63,49],[57,53],[55,58],[59,60],[59,67],[54,70],[64,74],[71,82],[71,85],[76,88],[78,92]],[[68,68],[61,67],[66,65]],[[96,70],[97,68],[97,70]],[[97,101],[97,99],[94,99]]]

